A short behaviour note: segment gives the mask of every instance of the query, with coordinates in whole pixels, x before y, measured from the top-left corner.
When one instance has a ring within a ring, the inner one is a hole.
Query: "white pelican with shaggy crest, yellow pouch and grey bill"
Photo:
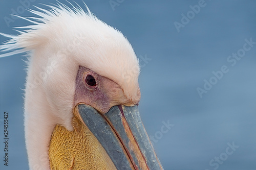
[[[32,170],[163,169],[138,111],[140,66],[129,41],[85,5],[29,10],[0,46],[26,53],[25,138]]]

